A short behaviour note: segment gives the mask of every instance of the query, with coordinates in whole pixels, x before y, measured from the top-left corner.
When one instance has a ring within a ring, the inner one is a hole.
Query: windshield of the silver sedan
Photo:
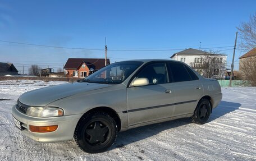
[[[131,75],[143,62],[124,61],[108,65],[92,75],[81,80],[83,82],[93,82],[102,84],[120,84]]]

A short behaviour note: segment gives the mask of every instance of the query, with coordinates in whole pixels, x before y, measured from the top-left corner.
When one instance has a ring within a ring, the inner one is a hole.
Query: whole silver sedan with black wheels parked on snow
[[[33,140],[75,139],[84,151],[100,153],[118,131],[184,117],[203,124],[221,99],[218,81],[185,63],[135,60],[112,63],[75,83],[24,93],[12,115]]]

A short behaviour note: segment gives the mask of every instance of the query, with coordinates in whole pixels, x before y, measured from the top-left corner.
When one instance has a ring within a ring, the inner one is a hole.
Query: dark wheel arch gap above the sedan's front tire
[[[93,113],[93,112],[104,112],[104,113],[107,113],[109,114],[110,117],[112,117],[115,122],[116,122],[116,125],[117,125],[117,131],[120,131],[121,130],[121,119],[120,117],[118,116],[117,112],[112,109],[112,108],[109,108],[109,107],[95,107],[95,108],[92,108],[90,109],[89,111],[85,112],[83,114],[83,116],[81,116],[81,118],[79,119],[79,122],[80,120],[86,116],[86,114],[88,113]],[[78,123],[77,123],[78,124]]]

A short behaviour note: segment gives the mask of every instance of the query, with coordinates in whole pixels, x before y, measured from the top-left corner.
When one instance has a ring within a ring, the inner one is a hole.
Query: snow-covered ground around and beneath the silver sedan
[[[139,127],[120,132],[109,151],[87,154],[75,141],[33,141],[13,124],[19,95],[62,83],[0,81],[0,160],[256,160],[256,88],[222,88],[222,102],[205,125],[184,118]]]

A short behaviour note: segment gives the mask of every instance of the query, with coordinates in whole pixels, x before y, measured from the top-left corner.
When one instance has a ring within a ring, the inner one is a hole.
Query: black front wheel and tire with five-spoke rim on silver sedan
[[[86,153],[106,151],[116,140],[115,120],[104,112],[86,114],[77,123],[74,138]]]

